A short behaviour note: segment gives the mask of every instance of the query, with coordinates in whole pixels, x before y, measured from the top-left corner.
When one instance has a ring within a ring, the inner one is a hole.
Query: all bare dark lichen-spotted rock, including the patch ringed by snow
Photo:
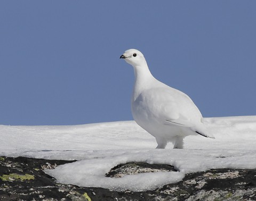
[[[0,200],[256,200],[256,169],[217,169],[187,174],[182,181],[143,192],[62,185],[44,173],[73,161],[0,157]],[[170,165],[127,163],[106,177],[176,171]]]

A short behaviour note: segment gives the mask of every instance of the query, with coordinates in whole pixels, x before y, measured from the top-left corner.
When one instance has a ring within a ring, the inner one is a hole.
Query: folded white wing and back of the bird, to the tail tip
[[[136,99],[140,112],[164,125],[190,128],[204,137],[211,137],[202,125],[202,115],[191,99],[171,87],[150,88],[142,91]]]

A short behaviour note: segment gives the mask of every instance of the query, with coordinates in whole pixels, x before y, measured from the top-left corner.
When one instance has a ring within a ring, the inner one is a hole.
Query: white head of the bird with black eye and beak
[[[131,64],[133,67],[139,65],[145,65],[146,60],[143,54],[137,49],[128,49],[120,56],[120,58],[124,58],[124,60]]]

